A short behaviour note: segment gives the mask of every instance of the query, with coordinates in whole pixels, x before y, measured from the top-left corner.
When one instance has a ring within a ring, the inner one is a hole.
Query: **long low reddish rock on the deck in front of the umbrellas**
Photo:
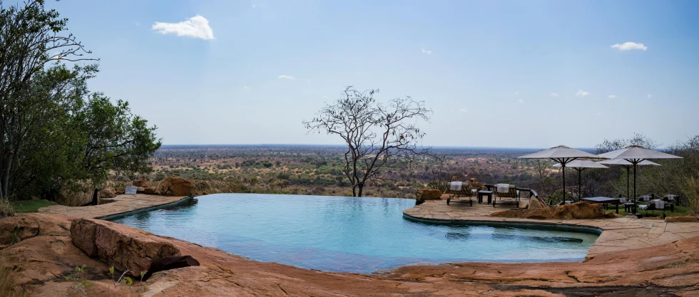
[[[539,209],[509,209],[495,212],[491,217],[513,217],[521,219],[598,219],[605,217],[602,204],[576,202]]]

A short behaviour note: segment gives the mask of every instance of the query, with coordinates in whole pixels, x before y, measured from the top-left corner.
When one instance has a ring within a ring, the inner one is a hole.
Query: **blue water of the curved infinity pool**
[[[411,199],[211,194],[114,219],[257,261],[369,273],[406,264],[578,261],[597,234],[411,222]]]

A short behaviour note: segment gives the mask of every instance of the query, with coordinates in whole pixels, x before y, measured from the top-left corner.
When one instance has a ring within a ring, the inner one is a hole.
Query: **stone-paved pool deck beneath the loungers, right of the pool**
[[[520,207],[526,207],[523,199]],[[586,226],[602,230],[602,234],[588,252],[588,258],[611,251],[640,249],[648,246],[668,244],[679,239],[699,236],[699,223],[666,223],[661,219],[636,219],[622,217],[615,219],[514,219],[490,217],[494,212],[514,208],[514,205],[479,204],[474,199],[469,204],[447,205],[446,199],[427,202],[403,211],[407,219],[419,219],[437,223],[502,222],[519,224],[549,224],[552,226]]]

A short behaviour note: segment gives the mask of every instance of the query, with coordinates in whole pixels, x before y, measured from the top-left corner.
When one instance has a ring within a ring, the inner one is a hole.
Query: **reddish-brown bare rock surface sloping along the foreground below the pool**
[[[63,276],[85,265],[83,279],[94,285],[88,296],[699,296],[699,237],[599,254],[575,264],[415,265],[364,275],[250,261],[111,222],[82,222],[101,229],[76,231],[73,226],[71,237],[71,224],[77,223],[55,214],[0,220],[0,257],[20,268],[18,289],[31,296],[63,296],[75,284]],[[81,236],[75,241],[79,248],[73,243],[76,236]],[[92,258],[83,251],[91,246]],[[136,281],[131,291],[115,287],[108,266],[136,265],[138,259],[130,255],[147,258],[153,246],[160,246],[159,253],[193,256],[200,266],[155,273],[145,283]]]

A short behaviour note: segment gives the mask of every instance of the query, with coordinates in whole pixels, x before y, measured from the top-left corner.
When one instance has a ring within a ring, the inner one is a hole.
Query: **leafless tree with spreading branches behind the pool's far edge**
[[[362,197],[367,182],[376,182],[381,170],[399,158],[429,153],[429,147],[418,147],[425,133],[417,120],[429,120],[432,110],[410,97],[377,103],[374,94],[378,92],[359,92],[349,86],[334,104],[320,109],[317,118],[303,121],[309,132],[338,135],[345,142],[343,172],[354,197]]]

